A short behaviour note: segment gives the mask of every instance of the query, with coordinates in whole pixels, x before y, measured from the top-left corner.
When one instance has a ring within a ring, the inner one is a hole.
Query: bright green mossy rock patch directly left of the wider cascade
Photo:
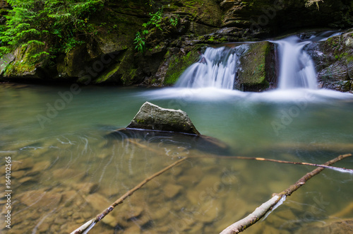
[[[191,64],[198,61],[199,55],[196,49],[185,56],[179,57],[178,55],[172,55],[169,58],[169,67],[164,77],[164,86],[172,86],[177,82],[179,76],[189,67]]]

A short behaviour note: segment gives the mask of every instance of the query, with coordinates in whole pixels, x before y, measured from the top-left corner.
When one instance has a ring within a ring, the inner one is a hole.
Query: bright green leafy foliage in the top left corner
[[[7,0],[6,28],[0,30],[0,55],[17,47],[30,49],[33,62],[53,58],[82,45],[92,33],[90,16],[104,7],[104,0]],[[49,47],[49,45],[51,47]]]

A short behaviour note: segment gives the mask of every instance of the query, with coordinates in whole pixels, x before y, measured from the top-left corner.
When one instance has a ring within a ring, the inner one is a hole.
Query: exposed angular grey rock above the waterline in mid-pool
[[[133,118],[128,129],[148,129],[156,131],[177,131],[200,136],[189,116],[182,110],[164,109],[145,102]]]

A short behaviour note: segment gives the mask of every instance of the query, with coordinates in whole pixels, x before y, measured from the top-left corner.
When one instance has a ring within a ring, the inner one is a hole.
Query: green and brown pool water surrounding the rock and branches
[[[4,158],[13,160],[11,230],[4,226],[1,197],[1,231],[69,233],[146,177],[188,156],[116,206],[90,233],[219,233],[313,168],[217,156],[324,163],[353,152],[353,103],[342,93],[185,95],[187,90],[85,87],[61,108],[58,92],[67,90],[0,86],[1,191]],[[170,135],[112,134],[146,100],[181,108],[202,134],[229,148],[205,150],[204,142]],[[353,168],[353,158],[336,165]],[[352,180],[324,170],[245,233],[303,233],[317,221],[352,219]]]

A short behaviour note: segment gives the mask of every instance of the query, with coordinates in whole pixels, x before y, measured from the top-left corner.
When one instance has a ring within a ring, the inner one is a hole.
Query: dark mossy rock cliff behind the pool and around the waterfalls
[[[325,0],[319,3],[319,9],[315,5],[305,7],[305,2],[106,1],[104,9],[90,19],[96,33],[87,35],[83,45],[60,54],[54,60],[30,65],[25,63],[28,59],[26,54],[33,48],[18,48],[3,57],[0,64],[1,80],[166,86],[172,85],[187,66],[198,60],[199,50],[210,45],[257,41],[305,28],[352,28],[351,1]],[[0,23],[4,24],[3,15],[8,5],[1,1],[0,7]],[[143,23],[150,20],[149,13],[155,13],[158,9],[162,9],[159,28],[147,28],[145,49],[138,52],[134,44],[136,33],[146,29]],[[334,66],[331,63],[335,63],[337,53],[347,48],[327,49],[329,45],[318,47],[323,53],[330,53],[324,61],[316,57],[319,74],[322,69]],[[269,43],[253,47],[246,55],[248,63],[238,78],[239,89],[263,90],[270,85],[275,86],[273,51],[273,45]],[[347,53],[345,57],[352,56],[350,50],[343,53]],[[259,58],[256,64],[249,62],[254,57]],[[347,66],[350,67],[349,63]],[[260,68],[258,76],[251,76],[254,67]],[[324,87],[335,88],[325,84],[330,77],[319,76]],[[344,85],[348,86],[346,83]]]

